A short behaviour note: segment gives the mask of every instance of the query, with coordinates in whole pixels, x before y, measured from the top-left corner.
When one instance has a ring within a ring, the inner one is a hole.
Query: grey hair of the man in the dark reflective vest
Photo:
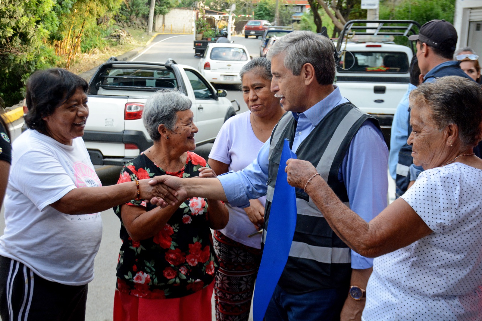
[[[335,45],[332,40],[311,31],[293,31],[276,40],[268,51],[268,58],[284,54],[284,66],[298,76],[304,64],[315,68],[320,85],[331,85],[335,80]]]

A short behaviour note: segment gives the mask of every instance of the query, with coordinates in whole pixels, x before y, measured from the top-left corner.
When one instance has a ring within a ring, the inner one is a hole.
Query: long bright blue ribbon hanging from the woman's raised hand
[[[288,261],[291,242],[296,225],[295,187],[287,182],[284,172],[286,161],[296,158],[290,150],[288,140],[284,140],[281,161],[276,176],[273,201],[269,212],[266,241],[261,257],[261,264],[254,288],[253,319],[262,321],[274,289]],[[268,232],[269,231],[269,232]]]

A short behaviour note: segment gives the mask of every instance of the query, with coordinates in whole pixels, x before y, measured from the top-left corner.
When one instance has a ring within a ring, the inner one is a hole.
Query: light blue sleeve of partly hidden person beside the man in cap
[[[400,148],[407,143],[408,139],[408,96],[412,90],[417,88],[411,83],[408,84],[408,89],[402,100],[397,106],[395,115],[393,116],[392,129],[390,134],[390,153],[388,154],[388,168],[390,169],[390,176],[393,179],[397,178],[397,164],[398,153]]]

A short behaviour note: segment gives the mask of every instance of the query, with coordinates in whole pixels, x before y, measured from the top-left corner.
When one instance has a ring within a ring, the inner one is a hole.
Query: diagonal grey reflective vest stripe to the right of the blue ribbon
[[[352,108],[336,128],[325,152],[321,156],[320,162],[316,166],[316,170],[321,174],[321,177],[325,181],[328,181],[328,175],[330,174],[330,169],[336,153],[338,152],[338,148],[341,146],[341,143],[350,131],[351,126],[353,126],[353,124],[362,116],[363,113],[359,109]]]

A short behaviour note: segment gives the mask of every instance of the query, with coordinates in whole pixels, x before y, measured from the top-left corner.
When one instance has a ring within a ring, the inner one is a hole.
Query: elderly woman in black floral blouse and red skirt
[[[215,177],[196,148],[191,101],[160,91],[143,120],[154,145],[122,168],[119,182],[156,175]],[[228,223],[220,201],[193,197],[165,208],[136,199],[114,208],[120,227],[114,320],[211,321],[217,267],[210,227]]]

